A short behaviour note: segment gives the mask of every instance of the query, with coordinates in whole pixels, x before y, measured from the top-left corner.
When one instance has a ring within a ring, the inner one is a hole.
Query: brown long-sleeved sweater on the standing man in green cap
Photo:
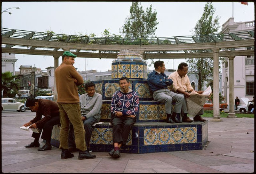
[[[61,63],[55,70],[58,103],[79,103],[77,87],[84,83],[83,77],[72,65]],[[77,83],[75,83],[75,79]]]

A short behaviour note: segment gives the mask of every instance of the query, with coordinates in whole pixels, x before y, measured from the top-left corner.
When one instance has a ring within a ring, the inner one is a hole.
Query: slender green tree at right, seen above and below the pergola
[[[217,34],[219,25],[219,17],[213,17],[215,9],[212,2],[207,2],[204,6],[204,13],[196,26],[192,30],[193,34],[199,42],[206,42],[210,34]],[[194,52],[206,52],[209,50],[197,50]],[[198,79],[198,91],[204,87],[204,82],[213,79],[213,57],[186,59],[189,69],[188,73],[195,73]],[[219,61],[219,69],[220,69]]]

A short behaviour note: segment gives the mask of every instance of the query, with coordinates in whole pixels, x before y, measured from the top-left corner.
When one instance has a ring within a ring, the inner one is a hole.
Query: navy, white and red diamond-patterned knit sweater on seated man
[[[123,93],[116,91],[112,97],[111,114],[115,111],[122,112],[123,116],[137,115],[139,111],[139,97],[134,91],[130,93]]]

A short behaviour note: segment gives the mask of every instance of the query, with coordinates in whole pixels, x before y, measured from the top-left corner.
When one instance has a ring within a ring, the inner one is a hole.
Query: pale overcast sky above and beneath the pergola
[[[120,28],[129,16],[132,2],[2,2],[2,28],[45,32],[52,30],[56,34],[91,34],[101,36],[109,28],[111,34],[121,35]],[[152,10],[157,12],[157,37],[191,36],[191,30],[204,12],[206,2],[142,2],[143,9],[152,4]],[[212,2],[215,16],[220,17],[220,26],[232,17],[232,2]],[[234,21],[246,22],[254,20],[254,3],[243,5],[234,2]],[[219,32],[221,31],[221,27]],[[20,65],[34,65],[46,70],[54,66],[52,56],[16,54],[16,69]],[[78,71],[95,69],[108,71],[113,59],[75,59],[74,67]],[[161,59],[166,69],[172,69],[172,59]],[[185,59],[174,59],[174,69]],[[59,59],[61,63],[61,58]],[[154,69],[148,67],[148,69]]]

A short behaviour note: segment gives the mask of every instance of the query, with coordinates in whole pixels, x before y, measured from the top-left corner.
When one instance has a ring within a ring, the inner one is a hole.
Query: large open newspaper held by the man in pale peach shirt
[[[188,114],[193,117],[196,116],[196,114],[202,109],[204,103],[211,94],[211,86],[208,86],[202,94],[198,94],[196,91],[189,93],[189,97],[186,98]]]

